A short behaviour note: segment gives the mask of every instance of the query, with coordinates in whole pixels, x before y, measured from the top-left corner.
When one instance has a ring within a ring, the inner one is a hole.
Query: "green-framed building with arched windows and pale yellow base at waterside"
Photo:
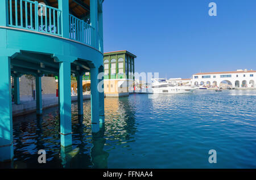
[[[106,97],[129,96],[134,92],[134,59],[127,50],[104,53],[104,92]]]

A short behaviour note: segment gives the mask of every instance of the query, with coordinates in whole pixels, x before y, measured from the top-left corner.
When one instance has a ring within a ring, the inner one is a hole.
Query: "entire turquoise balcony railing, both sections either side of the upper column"
[[[7,22],[9,27],[63,36],[63,32],[61,32],[61,14],[63,12],[58,8],[30,0],[6,1],[9,5]],[[69,14],[67,20],[69,21],[69,38],[71,40],[103,51],[102,37],[96,32],[95,28],[71,14]]]

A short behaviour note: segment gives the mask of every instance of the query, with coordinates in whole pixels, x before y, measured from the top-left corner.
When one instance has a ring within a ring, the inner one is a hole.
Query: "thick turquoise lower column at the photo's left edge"
[[[0,62],[0,162],[6,162],[14,156],[10,58],[0,56]]]

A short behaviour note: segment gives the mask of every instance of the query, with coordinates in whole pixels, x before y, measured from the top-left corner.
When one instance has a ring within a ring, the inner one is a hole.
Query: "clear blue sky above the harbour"
[[[209,3],[217,16],[209,16]],[[137,55],[135,71],[161,78],[256,70],[255,0],[105,0],[104,51]]]

